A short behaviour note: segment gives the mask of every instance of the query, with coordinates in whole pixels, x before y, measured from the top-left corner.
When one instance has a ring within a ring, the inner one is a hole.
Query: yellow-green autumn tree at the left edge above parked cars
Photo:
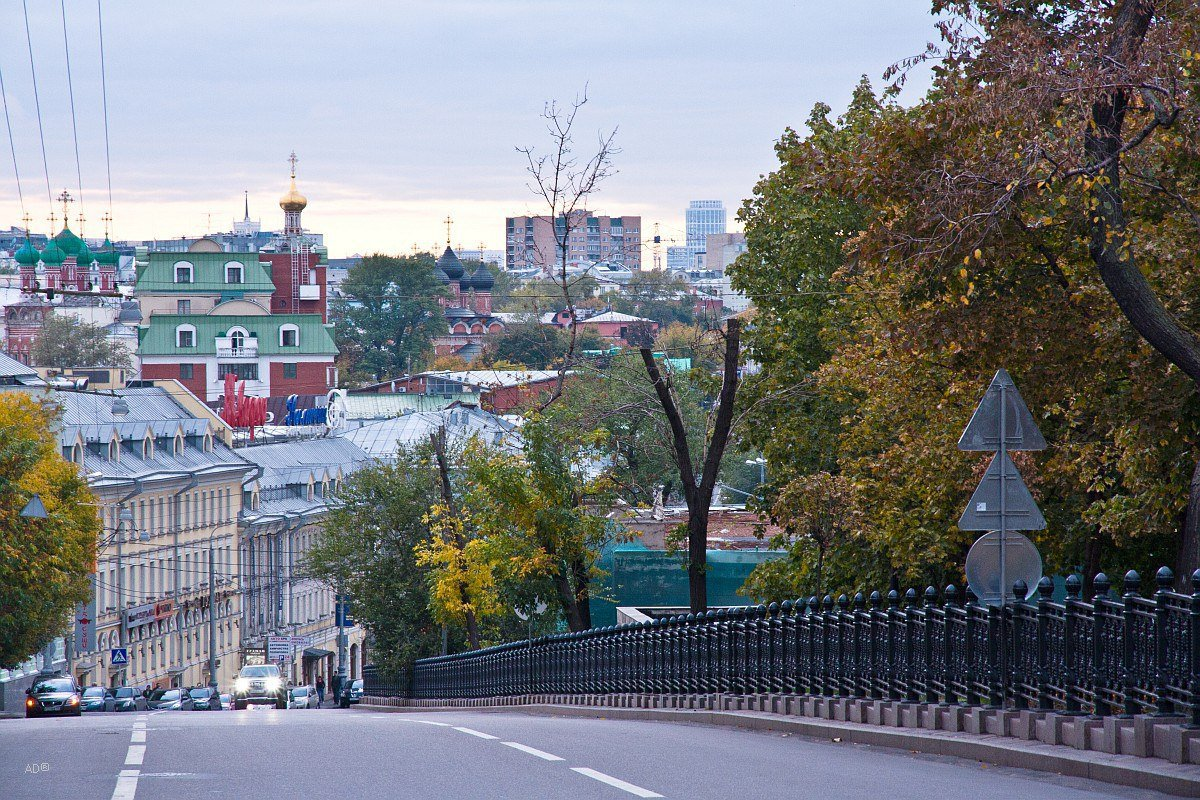
[[[88,600],[101,523],[88,483],[59,452],[56,408],[2,392],[0,420],[0,667],[12,669]],[[34,494],[46,519],[20,516]]]

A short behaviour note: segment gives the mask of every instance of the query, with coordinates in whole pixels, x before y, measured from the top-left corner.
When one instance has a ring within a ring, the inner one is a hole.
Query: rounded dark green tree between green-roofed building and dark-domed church
[[[433,337],[445,331],[438,302],[445,287],[434,269],[428,253],[377,253],[350,267],[330,317],[338,345],[355,357],[347,365],[354,378],[382,380],[430,359]]]

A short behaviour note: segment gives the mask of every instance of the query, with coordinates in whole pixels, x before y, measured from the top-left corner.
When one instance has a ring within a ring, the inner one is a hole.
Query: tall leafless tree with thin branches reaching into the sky
[[[554,390],[542,402],[541,408],[546,408],[562,396],[566,373],[575,359],[578,319],[566,271],[571,233],[587,224],[587,209],[584,206],[588,198],[606,178],[616,174],[612,157],[620,152],[614,144],[617,137],[614,127],[607,133],[600,131],[596,134],[595,150],[586,160],[576,155],[576,118],[587,102],[588,90],[586,85],[583,92],[568,107],[559,106],[557,101],[550,101],[541,113],[546,121],[546,132],[550,134],[547,152],[540,152],[532,146],[517,148],[517,152],[526,157],[526,170],[530,176],[527,186],[530,192],[545,201],[551,229],[554,234],[556,252],[553,258],[550,258],[548,253],[542,253],[535,243],[538,260],[541,264],[556,264],[552,278],[563,294],[563,305],[570,323],[570,336],[566,351],[558,367],[558,380],[554,384]]]

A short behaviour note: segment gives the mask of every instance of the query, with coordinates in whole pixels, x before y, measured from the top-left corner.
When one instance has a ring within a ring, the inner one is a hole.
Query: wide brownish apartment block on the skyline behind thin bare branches
[[[508,270],[541,269],[550,273],[566,253],[569,267],[619,264],[642,269],[642,218],[606,217],[590,211],[570,215],[508,217],[504,221]]]

